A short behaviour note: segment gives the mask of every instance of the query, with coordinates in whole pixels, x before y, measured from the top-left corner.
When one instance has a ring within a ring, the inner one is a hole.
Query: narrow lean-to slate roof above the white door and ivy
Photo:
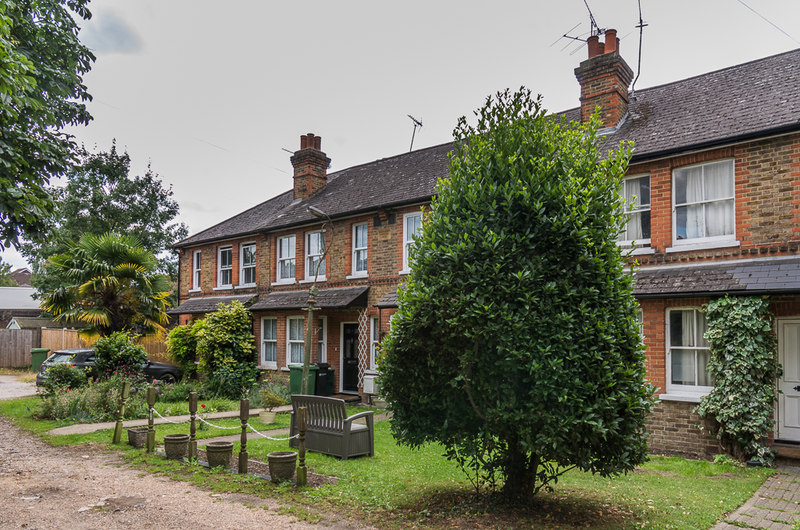
[[[800,258],[647,267],[634,273],[637,298],[800,292]]]

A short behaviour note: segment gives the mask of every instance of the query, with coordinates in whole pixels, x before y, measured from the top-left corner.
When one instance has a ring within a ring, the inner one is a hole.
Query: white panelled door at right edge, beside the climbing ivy
[[[778,320],[778,359],[783,376],[778,382],[778,436],[800,442],[800,318]]]

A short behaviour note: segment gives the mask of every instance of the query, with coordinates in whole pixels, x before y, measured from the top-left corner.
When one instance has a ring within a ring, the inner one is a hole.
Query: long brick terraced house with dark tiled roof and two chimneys
[[[784,367],[774,439],[779,448],[800,442],[800,50],[633,94],[616,32],[588,44],[575,70],[581,106],[564,114],[586,120],[600,106],[605,144],[635,145],[620,245],[638,263],[647,372],[658,388],[651,450],[720,452],[692,410],[712,385],[699,308],[725,294],[770,297]],[[328,175],[320,138],[303,136],[293,190],[175,245],[172,312],[187,322],[218,302],[246,302],[260,366],[285,370],[303,359],[303,308],[327,244],[311,360],[336,369],[337,392],[371,393],[376,345],[450,149]]]

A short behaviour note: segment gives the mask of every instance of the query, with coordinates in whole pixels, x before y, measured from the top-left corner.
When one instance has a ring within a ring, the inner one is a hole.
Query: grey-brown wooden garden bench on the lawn
[[[297,434],[297,408],[306,407],[306,449],[347,460],[351,456],[375,455],[373,412],[359,412],[347,417],[344,400],[325,396],[292,395],[290,435]],[[353,420],[366,419],[366,425]],[[289,441],[298,446],[296,438]]]

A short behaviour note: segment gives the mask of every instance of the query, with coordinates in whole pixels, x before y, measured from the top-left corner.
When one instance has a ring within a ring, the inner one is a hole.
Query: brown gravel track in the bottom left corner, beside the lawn
[[[0,528],[317,528],[269,499],[142,473],[96,445],[51,447],[0,418]],[[323,521],[352,528],[352,521]]]

